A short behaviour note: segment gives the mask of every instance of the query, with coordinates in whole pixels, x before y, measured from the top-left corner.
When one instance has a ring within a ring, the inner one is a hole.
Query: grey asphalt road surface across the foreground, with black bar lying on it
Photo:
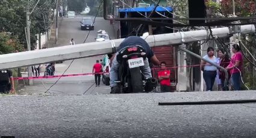
[[[255,99],[255,91],[0,97],[0,136],[255,137],[256,104],[158,106]]]

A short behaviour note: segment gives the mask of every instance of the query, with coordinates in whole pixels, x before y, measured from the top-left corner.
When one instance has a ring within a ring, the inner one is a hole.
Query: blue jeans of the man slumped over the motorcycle
[[[116,81],[118,80],[118,71],[119,71],[119,67],[120,64],[119,62],[117,62],[116,60],[116,56],[118,55],[118,53],[115,54],[114,59],[112,61],[111,64],[111,70],[110,70],[110,87],[116,86]],[[149,67],[149,62],[148,62],[148,58],[146,58],[144,60],[144,66],[140,67],[140,70],[142,71],[142,74],[146,77],[146,78],[150,78],[152,77],[151,74],[151,69]]]

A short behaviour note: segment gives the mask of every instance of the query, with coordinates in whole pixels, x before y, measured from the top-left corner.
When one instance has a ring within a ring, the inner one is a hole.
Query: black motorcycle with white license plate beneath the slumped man
[[[129,46],[121,49],[116,56],[119,62],[119,73],[117,83],[120,93],[151,92],[157,87],[157,79],[146,78],[142,74],[141,67],[144,66],[146,51],[142,46]]]

